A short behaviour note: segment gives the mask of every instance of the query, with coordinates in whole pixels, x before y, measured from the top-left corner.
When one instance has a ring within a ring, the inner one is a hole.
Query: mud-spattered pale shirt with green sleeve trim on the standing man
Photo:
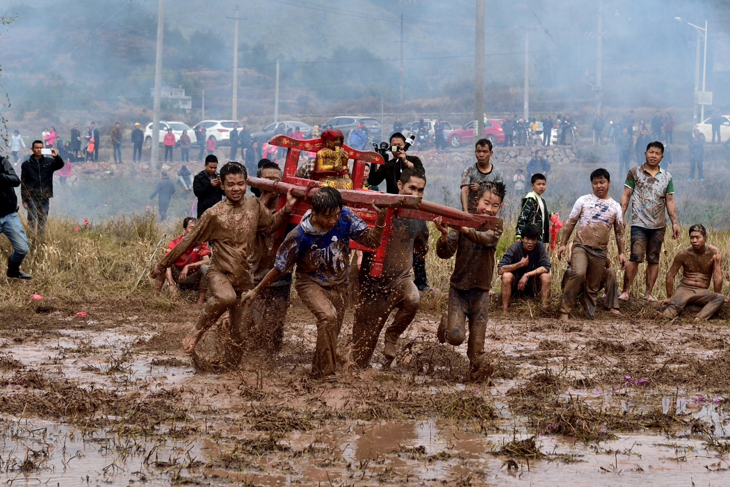
[[[660,167],[656,176],[652,176],[646,170],[646,164],[642,164],[629,171],[625,185],[634,190],[631,225],[645,229],[666,228],[666,195],[675,192],[672,175]]]

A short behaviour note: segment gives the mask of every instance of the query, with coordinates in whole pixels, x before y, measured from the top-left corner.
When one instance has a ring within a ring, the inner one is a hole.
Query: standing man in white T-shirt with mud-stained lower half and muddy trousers
[[[580,196],[573,205],[558,248],[559,259],[564,256],[573,229],[577,226],[571,256],[572,274],[565,284],[560,308],[561,321],[569,321],[570,312],[575,307],[575,298],[581,289],[584,290],[585,318],[593,318],[596,297],[606,268],[611,229],[616,235],[621,268],[626,266],[626,255],[623,253],[626,243],[623,239],[623,212],[621,205],[608,196],[611,175],[606,169],[596,169],[591,172],[591,185],[593,193]]]

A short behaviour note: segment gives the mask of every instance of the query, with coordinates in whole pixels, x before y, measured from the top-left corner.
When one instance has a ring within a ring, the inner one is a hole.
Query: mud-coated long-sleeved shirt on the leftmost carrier
[[[195,228],[164,256],[160,265],[169,267],[189,248],[211,242],[210,269],[226,275],[236,291],[248,291],[253,288],[250,261],[262,251],[256,233],[274,233],[288,221],[289,215],[283,210],[272,215],[253,196],[244,196],[237,205],[224,199],[203,213]]]

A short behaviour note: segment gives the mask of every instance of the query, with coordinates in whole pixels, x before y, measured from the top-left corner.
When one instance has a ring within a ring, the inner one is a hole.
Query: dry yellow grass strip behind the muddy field
[[[454,259],[447,260],[437,257],[435,248],[439,232],[431,227],[431,252],[426,258],[426,269],[429,283],[435,289],[434,293],[423,296],[423,310],[440,313],[445,310],[448,292],[448,277],[453,272]],[[514,223],[506,223],[502,239],[497,247],[496,258],[499,261],[502,254],[514,242]],[[162,229],[155,222],[152,214],[139,214],[131,217],[118,217],[104,221],[93,229],[77,228],[74,221],[61,218],[50,218],[45,239],[39,240],[30,234],[31,252],[23,263],[23,269],[34,276],[30,282],[11,281],[9,285],[0,288],[0,308],[19,309],[24,307],[39,307],[53,300],[56,306],[61,304],[80,304],[84,302],[100,302],[104,299],[142,299],[150,300],[153,282],[145,273],[139,286],[135,286],[139,275],[152,255],[155,245],[163,234],[168,237],[163,242],[166,245],[171,236],[177,236],[180,228],[169,227]],[[730,255],[730,231],[710,230],[708,238],[710,244],[717,246],[723,255]],[[680,239],[667,239],[661,253],[659,278],[655,288],[655,296],[664,298],[664,277],[672,264],[672,258],[682,248],[689,245],[687,228],[683,227]],[[628,246],[628,242],[627,242]],[[628,249],[627,249],[628,250]],[[7,239],[0,239],[0,254],[3,261],[11,248]],[[616,269],[618,251],[615,242],[611,242],[610,254]],[[155,257],[155,261],[161,252]],[[556,253],[550,254],[553,264],[553,311],[557,311],[558,297],[561,294],[560,281],[566,268],[566,261],[558,261]],[[730,263],[723,261],[723,275],[726,278],[726,287],[730,278]],[[619,283],[623,282],[623,272],[618,272]],[[639,267],[639,274],[634,282],[632,294],[635,297],[643,296],[645,291],[645,266]],[[495,291],[499,293],[499,280],[495,278]],[[44,296],[43,301],[34,301],[32,294]],[[166,296],[166,294],[164,294]],[[166,298],[164,298],[166,299]],[[160,303],[157,303],[160,304]]]

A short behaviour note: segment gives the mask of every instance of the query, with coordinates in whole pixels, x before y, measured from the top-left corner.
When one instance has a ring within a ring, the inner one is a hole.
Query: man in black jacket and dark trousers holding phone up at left
[[[51,149],[51,156],[43,156],[43,142],[34,140],[33,155],[20,166],[20,196],[23,208],[28,210],[28,223],[31,229],[43,237],[48,218],[48,200],[53,198],[53,172],[66,164],[61,156]]]

